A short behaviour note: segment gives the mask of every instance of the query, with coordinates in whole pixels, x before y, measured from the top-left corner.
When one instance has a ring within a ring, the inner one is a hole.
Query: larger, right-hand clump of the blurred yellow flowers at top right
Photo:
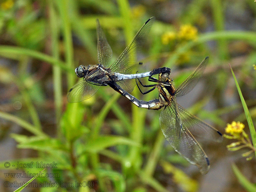
[[[182,25],[178,37],[184,40],[193,40],[197,38],[197,28],[191,25]]]

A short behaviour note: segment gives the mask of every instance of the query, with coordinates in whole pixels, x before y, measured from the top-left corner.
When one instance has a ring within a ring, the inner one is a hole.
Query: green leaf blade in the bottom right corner
[[[233,172],[236,175],[237,180],[239,183],[248,191],[248,192],[255,192],[256,186],[255,184],[251,183],[249,180],[244,177],[244,175],[239,171],[236,164],[232,164]]]

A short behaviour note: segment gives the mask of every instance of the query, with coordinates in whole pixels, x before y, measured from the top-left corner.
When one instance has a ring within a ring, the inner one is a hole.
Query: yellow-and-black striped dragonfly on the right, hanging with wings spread
[[[148,77],[148,81],[155,82],[156,84],[144,85],[138,78],[139,83],[143,87],[152,87],[146,92],[141,91],[136,78],[136,84],[142,94],[147,94],[157,88],[159,99],[139,101],[135,105],[155,110],[163,108],[159,116],[159,123],[166,140],[188,162],[196,165],[202,174],[206,174],[209,171],[210,162],[194,135],[221,142],[223,139],[222,134],[211,125],[181,107],[177,103],[176,98],[186,95],[195,87],[203,74],[207,62],[208,57],[198,65],[195,71],[177,89],[172,84],[173,80],[169,78],[169,71],[159,73],[158,79],[152,76]]]

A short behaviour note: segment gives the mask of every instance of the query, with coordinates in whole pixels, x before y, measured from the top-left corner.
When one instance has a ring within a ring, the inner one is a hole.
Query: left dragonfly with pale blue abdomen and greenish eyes
[[[115,90],[122,90],[122,95],[126,95],[126,92],[131,92],[135,86],[135,81],[132,81],[132,79],[170,71],[170,68],[164,67],[145,73],[137,73],[137,69],[142,65],[142,62],[137,62],[136,53],[140,51],[154,20],[155,17],[147,20],[116,61],[109,65],[112,58],[112,49],[97,19],[97,55],[99,63],[87,67],[80,65],[75,69],[77,77],[83,78],[83,80],[68,91],[68,102],[74,103],[89,99],[98,91],[100,86],[107,85]]]

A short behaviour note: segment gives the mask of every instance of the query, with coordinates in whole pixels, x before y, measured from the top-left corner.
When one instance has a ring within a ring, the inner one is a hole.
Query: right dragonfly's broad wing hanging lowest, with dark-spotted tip
[[[196,165],[202,174],[206,174],[210,168],[209,159],[186,125],[181,123],[178,110],[174,98],[170,105],[161,111],[159,122],[162,132],[175,151],[189,163]]]

